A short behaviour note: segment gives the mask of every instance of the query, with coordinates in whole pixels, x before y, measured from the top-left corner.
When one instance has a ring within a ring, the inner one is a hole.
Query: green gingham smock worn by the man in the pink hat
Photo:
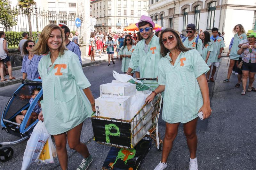
[[[145,40],[141,40],[134,47],[129,67],[132,70],[140,67],[141,78],[157,78],[158,76],[158,61],[161,58],[159,38],[153,35],[148,44],[148,52],[144,51]],[[142,83],[155,90],[158,84],[155,80],[142,80]]]

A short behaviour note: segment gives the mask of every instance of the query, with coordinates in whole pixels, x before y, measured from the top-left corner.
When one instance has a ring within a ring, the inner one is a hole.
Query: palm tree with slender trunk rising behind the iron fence
[[[29,40],[32,40],[32,26],[30,12],[32,11],[32,6],[36,5],[34,0],[18,0],[18,5],[20,9],[28,16],[28,28],[29,28]]]

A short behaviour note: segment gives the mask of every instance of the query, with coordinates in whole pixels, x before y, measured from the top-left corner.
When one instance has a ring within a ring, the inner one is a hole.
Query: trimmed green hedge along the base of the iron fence
[[[15,44],[15,45],[18,46],[20,40],[23,39],[22,33],[24,33],[24,32],[13,32],[13,31],[5,32],[6,40],[7,40],[8,44],[9,45],[14,45]],[[28,36],[29,36],[29,32],[26,32],[26,33],[28,33]],[[33,41],[36,41],[37,33],[32,32],[32,37],[33,37]]]

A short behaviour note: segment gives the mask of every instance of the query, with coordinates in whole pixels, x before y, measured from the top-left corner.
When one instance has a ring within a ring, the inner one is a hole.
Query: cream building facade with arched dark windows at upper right
[[[148,15],[156,24],[185,35],[190,23],[210,33],[217,27],[225,32],[226,46],[236,24],[256,30],[256,0],[149,0]]]

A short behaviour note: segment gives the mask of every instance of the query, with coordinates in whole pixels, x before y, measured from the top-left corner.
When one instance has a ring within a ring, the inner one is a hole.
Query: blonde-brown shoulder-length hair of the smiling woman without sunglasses
[[[49,24],[44,27],[44,29],[41,32],[38,42],[31,49],[31,51],[34,54],[42,55],[42,54],[47,54],[49,52],[49,47],[47,46],[47,41],[48,41],[48,38],[51,35],[52,31],[55,29],[58,29],[61,32],[61,45],[58,50],[59,50],[60,55],[64,54],[64,51],[67,50],[66,44],[65,44],[65,34],[64,34],[63,30],[56,24]]]

